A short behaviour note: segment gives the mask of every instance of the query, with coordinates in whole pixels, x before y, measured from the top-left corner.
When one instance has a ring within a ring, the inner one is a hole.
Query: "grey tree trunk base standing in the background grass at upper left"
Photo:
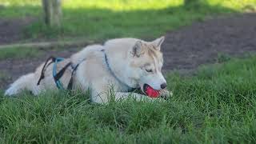
[[[42,0],[44,21],[48,26],[61,26],[61,0]]]

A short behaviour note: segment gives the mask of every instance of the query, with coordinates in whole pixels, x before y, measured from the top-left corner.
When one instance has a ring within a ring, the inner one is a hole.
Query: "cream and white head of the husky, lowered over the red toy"
[[[145,93],[146,86],[154,90],[166,88],[166,79],[162,75],[162,52],[161,45],[164,37],[153,42],[138,40],[130,50],[130,76],[134,77]],[[136,73],[136,74],[135,74]]]

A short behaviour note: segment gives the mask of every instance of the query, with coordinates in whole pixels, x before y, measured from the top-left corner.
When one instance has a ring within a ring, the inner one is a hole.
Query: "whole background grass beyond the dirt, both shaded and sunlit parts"
[[[62,28],[49,28],[42,24],[40,0],[1,0],[1,18],[38,18],[26,26],[26,38],[86,38],[107,39],[117,37],[155,38],[202,21],[209,15],[242,12],[254,9],[255,0],[198,0],[184,6],[182,0],[66,0],[63,1]]]

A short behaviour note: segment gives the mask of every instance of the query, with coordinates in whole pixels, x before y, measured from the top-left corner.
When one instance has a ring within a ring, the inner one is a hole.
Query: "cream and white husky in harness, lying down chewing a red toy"
[[[115,100],[128,98],[149,98],[142,94],[130,93],[134,88],[146,92],[146,86],[161,90],[165,96],[170,96],[166,90],[166,79],[163,77],[161,45],[164,37],[153,42],[145,42],[136,38],[117,38],[105,42],[104,45],[86,46],[77,54],[61,62],[47,61],[39,66],[34,73],[18,78],[5,95],[18,94],[22,90],[30,90],[37,95],[46,90],[81,89],[90,90],[91,101],[97,103],[109,102],[108,91],[114,89]],[[62,74],[56,80],[55,69]],[[64,70],[65,69],[65,70]],[[63,72],[64,71],[64,72]],[[71,82],[70,82],[71,81]],[[61,84],[60,84],[61,83]],[[60,86],[61,85],[61,86]]]

